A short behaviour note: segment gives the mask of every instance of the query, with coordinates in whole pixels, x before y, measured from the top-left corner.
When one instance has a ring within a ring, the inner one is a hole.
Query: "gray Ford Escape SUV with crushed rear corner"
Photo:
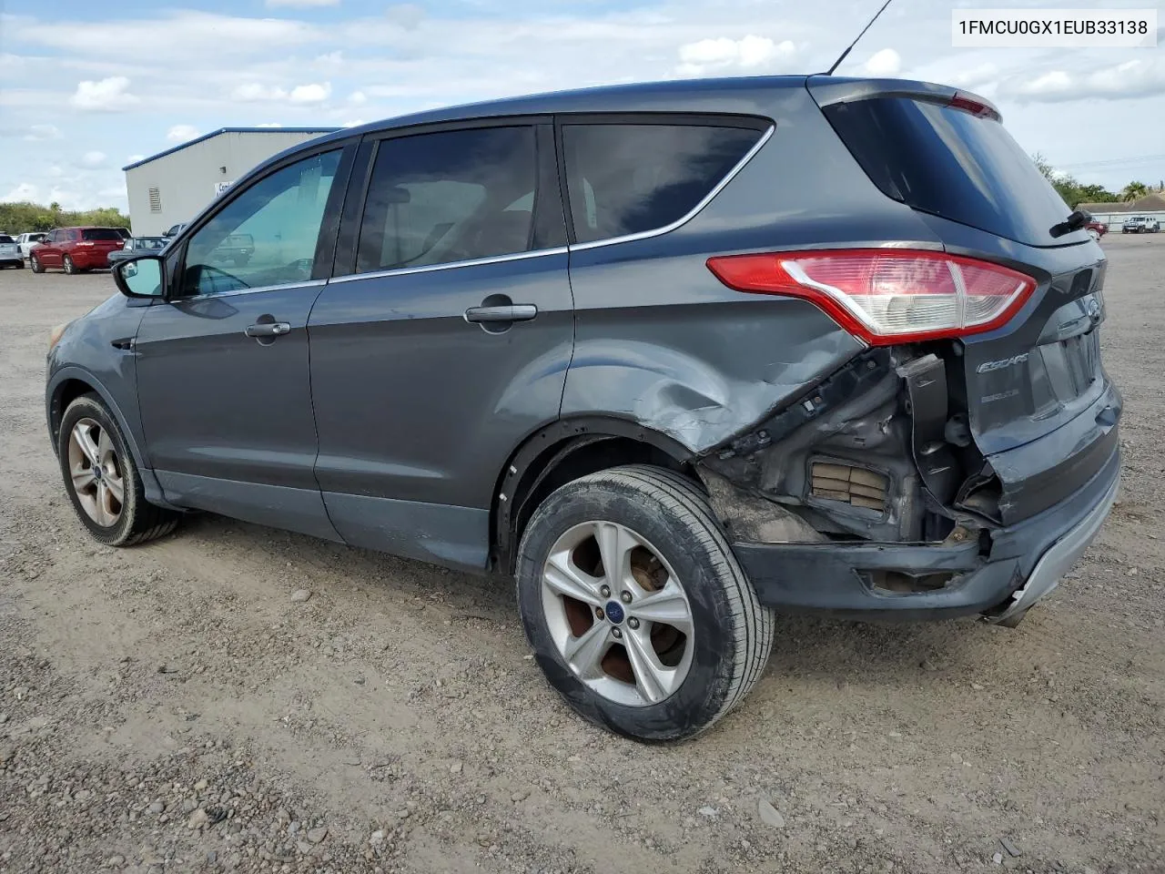
[[[1121,399],[1067,213],[917,82],[345,129],[115,268],[54,334],[49,429],[104,543],[203,509],[514,578],[571,706],[684,738],[775,612],[1014,623],[1095,535]]]

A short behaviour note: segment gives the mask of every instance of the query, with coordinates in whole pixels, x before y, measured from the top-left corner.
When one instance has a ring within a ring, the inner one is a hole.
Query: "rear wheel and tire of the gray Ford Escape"
[[[772,648],[772,612],[707,498],[663,468],[615,467],[553,492],[522,536],[516,577],[551,685],[586,719],[636,740],[711,727]]]

